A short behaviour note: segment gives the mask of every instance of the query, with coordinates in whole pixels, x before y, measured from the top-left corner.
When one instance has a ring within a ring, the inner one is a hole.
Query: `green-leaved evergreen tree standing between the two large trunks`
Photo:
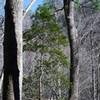
[[[28,79],[29,77],[24,79],[25,84],[33,81],[29,83],[33,89],[24,90],[31,91],[33,97],[39,96],[40,77],[42,77],[43,86],[46,87],[45,91],[48,89],[50,94],[53,92],[56,96],[58,96],[58,89],[66,91],[70,85],[66,73],[69,58],[64,54],[64,50],[68,46],[68,38],[61,31],[53,15],[53,9],[49,5],[40,6],[36,11],[31,29],[24,33],[24,51],[32,51],[40,56],[35,58],[36,66],[34,66],[34,73],[30,79]],[[59,68],[61,68],[60,72]],[[58,79],[61,80],[60,87]],[[26,96],[29,95],[27,92],[25,93]]]

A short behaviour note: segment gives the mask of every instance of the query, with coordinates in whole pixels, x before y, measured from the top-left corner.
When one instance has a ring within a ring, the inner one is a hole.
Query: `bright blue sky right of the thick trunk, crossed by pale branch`
[[[24,0],[24,7],[25,7],[25,8],[29,5],[30,1],[31,1],[31,0]],[[43,1],[44,1],[44,0],[36,0],[35,3],[33,4],[31,10],[32,10],[33,12],[35,12],[35,10],[38,8],[38,6],[43,4]]]

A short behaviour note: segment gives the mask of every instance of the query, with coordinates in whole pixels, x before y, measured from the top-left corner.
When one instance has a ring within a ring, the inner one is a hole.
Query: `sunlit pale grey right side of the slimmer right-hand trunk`
[[[75,27],[75,19],[74,19],[74,11],[75,11],[74,8],[75,7],[74,7],[74,5],[75,5],[74,1],[71,1],[70,2],[70,25],[72,26],[71,34],[72,34],[72,39],[74,42],[73,44],[75,44],[74,48],[78,50],[78,48],[77,48],[78,34],[77,34],[77,29]],[[73,51],[73,52],[75,52],[75,51]],[[74,62],[74,64],[75,64],[75,62]],[[75,66],[73,65],[73,67],[75,67]],[[78,90],[79,89],[79,66],[78,66],[78,64],[76,65],[76,68],[75,68],[73,83],[74,83],[74,86],[73,86],[74,89],[73,89],[73,95],[71,98],[74,97],[73,100],[78,100],[78,96],[79,96],[79,90]]]

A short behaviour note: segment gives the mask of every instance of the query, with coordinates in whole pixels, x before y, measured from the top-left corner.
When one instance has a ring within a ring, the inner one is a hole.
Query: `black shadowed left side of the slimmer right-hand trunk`
[[[74,74],[74,59],[73,59],[73,39],[71,36],[71,26],[70,26],[70,1],[71,0],[63,0],[64,2],[64,13],[65,13],[65,19],[66,19],[66,24],[67,24],[67,32],[68,32],[68,39],[69,39],[69,43],[70,43],[70,82],[73,83],[73,74]],[[72,86],[70,85],[70,89],[69,89],[69,98],[72,95]]]

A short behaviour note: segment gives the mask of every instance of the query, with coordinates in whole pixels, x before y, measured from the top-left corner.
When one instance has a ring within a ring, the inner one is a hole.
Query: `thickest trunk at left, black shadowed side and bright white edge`
[[[22,0],[6,0],[3,100],[22,97],[22,14]]]

